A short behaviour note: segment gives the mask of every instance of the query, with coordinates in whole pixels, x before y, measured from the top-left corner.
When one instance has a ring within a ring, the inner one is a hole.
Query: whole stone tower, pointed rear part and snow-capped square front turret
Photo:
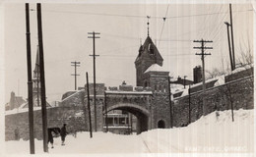
[[[162,62],[163,59],[157,46],[148,36],[139,49],[135,67],[137,86],[147,86],[152,89],[151,128],[154,129],[170,127],[169,72],[162,68]]]

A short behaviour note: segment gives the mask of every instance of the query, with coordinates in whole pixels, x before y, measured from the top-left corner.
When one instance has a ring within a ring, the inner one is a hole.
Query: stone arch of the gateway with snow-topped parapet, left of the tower
[[[137,118],[137,133],[152,129],[151,102],[152,91],[105,91],[105,108],[103,113],[121,110]]]

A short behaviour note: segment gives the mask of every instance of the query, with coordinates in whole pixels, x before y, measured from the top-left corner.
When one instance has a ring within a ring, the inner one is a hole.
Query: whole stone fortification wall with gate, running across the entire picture
[[[158,122],[163,120],[165,128],[170,128],[170,107],[168,101],[168,90],[155,91],[155,85],[167,86],[167,77],[151,78],[152,93],[149,94],[121,94],[119,96],[113,94],[113,97],[107,95],[107,101],[110,104],[138,105],[150,112],[149,129],[158,128]],[[114,92],[114,91],[111,91]],[[103,131],[104,116],[104,85],[97,86],[96,95],[96,128],[97,131]],[[205,100],[206,106],[203,112],[203,94],[195,92],[180,98],[174,99],[172,102],[172,122],[174,127],[187,126],[189,123],[195,122],[203,114],[207,115],[216,110],[227,110],[231,108],[231,103],[235,110],[253,109],[253,77],[240,78],[230,81],[224,85],[212,87],[206,90]],[[190,99],[190,105],[189,105]],[[90,106],[92,111],[93,131],[95,131],[95,106],[94,96],[90,95]],[[126,108],[126,110],[129,108]],[[130,110],[130,109],[129,109]],[[128,111],[128,110],[127,110]],[[131,110],[132,111],[132,110]],[[5,133],[6,140],[14,140],[18,136],[27,140],[29,139],[29,113],[17,113],[5,115]],[[138,116],[138,115],[137,115]],[[60,103],[59,107],[47,108],[48,128],[61,128],[64,123],[67,124],[67,130],[73,131],[89,131],[89,109],[88,97],[85,90],[80,90],[69,98]],[[145,117],[144,117],[145,118]],[[34,137],[42,138],[42,121],[41,111],[33,112],[34,119]],[[235,118],[234,118],[235,119]],[[190,122],[189,122],[190,120]],[[141,123],[146,122],[141,121]],[[146,127],[145,127],[146,128]],[[16,132],[16,133],[15,133]]]

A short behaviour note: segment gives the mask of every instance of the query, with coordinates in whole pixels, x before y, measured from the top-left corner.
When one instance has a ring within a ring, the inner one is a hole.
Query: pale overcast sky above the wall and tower
[[[4,76],[5,103],[11,91],[24,98],[27,93],[27,49],[25,4],[5,3],[4,22]],[[36,10],[35,4],[31,5]],[[159,48],[163,67],[170,76],[188,76],[193,79],[193,68],[201,65],[195,53],[193,40],[213,40],[207,46],[206,70],[224,68],[229,64],[226,26],[229,22],[228,4],[42,4],[42,30],[45,65],[46,95],[49,102],[60,100],[63,93],[74,90],[74,67],[78,68],[78,86],[84,86],[85,73],[93,82],[93,40],[88,32],[100,32],[96,39],[96,82],[118,86],[122,80],[136,84],[134,61],[138,55],[140,38],[147,37],[147,16],[150,36]],[[251,4],[234,4],[233,26],[235,57],[239,48],[252,41],[255,15]],[[31,11],[32,70],[37,45],[36,11]],[[167,19],[162,20],[163,17]],[[157,41],[157,42],[156,42]],[[252,42],[250,43],[252,47]],[[2,69],[3,70],[3,69]]]

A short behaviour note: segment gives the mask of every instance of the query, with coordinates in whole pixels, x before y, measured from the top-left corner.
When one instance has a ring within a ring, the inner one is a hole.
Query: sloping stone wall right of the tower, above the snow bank
[[[174,99],[174,102],[172,102],[173,126],[184,127],[189,123],[195,122],[202,115],[210,114],[216,110],[229,110],[231,109],[231,103],[233,104],[234,110],[241,108],[253,109],[254,101],[252,80],[252,77],[240,78],[217,87],[209,88],[206,90],[205,94],[206,105],[204,112],[202,106],[202,92],[196,92],[190,96],[186,95],[181,98]]]

